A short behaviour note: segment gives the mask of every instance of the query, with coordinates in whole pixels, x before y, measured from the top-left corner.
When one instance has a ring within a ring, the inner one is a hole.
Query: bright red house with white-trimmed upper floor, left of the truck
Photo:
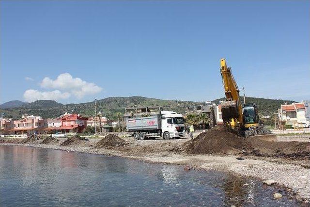
[[[61,121],[59,128],[63,133],[81,133],[86,128],[87,117],[80,114],[64,114],[57,119]]]

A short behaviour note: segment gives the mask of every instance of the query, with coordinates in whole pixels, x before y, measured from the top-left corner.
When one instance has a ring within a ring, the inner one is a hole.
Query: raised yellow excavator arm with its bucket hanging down
[[[225,59],[221,59],[220,65],[226,96],[226,100],[221,103],[222,119],[233,128],[236,126],[242,127],[243,114],[237,83],[233,78],[232,69],[227,67]]]

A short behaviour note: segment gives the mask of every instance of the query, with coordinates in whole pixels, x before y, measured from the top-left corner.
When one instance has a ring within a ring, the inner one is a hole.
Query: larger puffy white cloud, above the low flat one
[[[73,78],[69,73],[60,74],[56,80],[48,77],[44,78],[40,83],[42,88],[57,89],[68,92],[78,98],[86,95],[97,94],[102,88],[94,83],[86,82],[80,78]]]

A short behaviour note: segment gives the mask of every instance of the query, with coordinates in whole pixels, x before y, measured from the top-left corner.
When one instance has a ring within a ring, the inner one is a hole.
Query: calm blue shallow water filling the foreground
[[[217,171],[0,145],[0,206],[296,206],[273,187]]]

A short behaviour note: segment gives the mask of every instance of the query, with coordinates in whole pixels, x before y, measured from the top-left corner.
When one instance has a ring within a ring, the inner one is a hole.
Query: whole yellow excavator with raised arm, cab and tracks
[[[276,141],[276,135],[272,135],[270,130],[263,127],[256,105],[254,103],[241,104],[238,85],[225,59],[221,59],[220,65],[226,96],[226,100],[220,104],[225,127],[239,136],[257,136],[262,140]]]

